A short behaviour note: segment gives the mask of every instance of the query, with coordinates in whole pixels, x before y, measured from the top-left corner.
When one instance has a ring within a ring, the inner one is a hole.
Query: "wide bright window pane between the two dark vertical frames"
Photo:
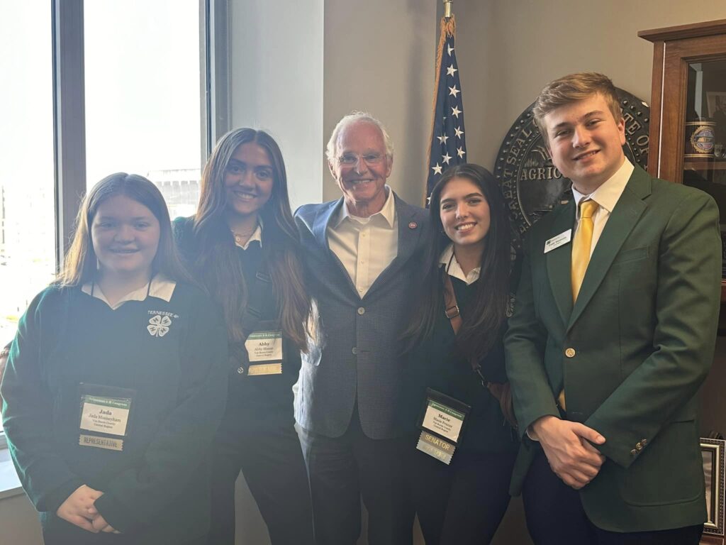
[[[172,218],[199,199],[198,0],[84,4],[86,185],[113,172],[160,188]]]

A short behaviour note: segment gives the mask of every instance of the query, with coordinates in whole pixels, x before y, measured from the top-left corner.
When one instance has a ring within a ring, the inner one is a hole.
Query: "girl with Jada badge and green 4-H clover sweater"
[[[89,191],[2,382],[46,545],[205,542],[227,339],[220,310],[185,279],[155,185],[122,172]]]

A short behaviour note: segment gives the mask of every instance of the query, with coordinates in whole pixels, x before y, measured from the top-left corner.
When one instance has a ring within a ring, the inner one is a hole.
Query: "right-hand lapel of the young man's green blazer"
[[[646,204],[643,198],[650,195],[650,176],[643,169],[636,166],[630,176],[622,195],[608,218],[608,223],[603,229],[600,239],[597,241],[595,251],[592,252],[590,263],[587,265],[585,277],[582,280],[577,301],[572,309],[570,319],[567,320],[568,329],[576,322],[577,318],[595,295],[603,278],[610,270],[613,259],[617,256],[621,246],[628,238],[633,227],[645,211]],[[568,278],[569,275],[568,275]]]

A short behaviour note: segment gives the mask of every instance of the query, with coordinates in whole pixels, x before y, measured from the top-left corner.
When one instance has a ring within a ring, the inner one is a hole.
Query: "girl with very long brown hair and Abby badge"
[[[208,543],[234,543],[234,481],[242,470],[273,545],[312,544],[293,384],[307,350],[310,302],[287,197],[282,152],[262,131],[236,129],[214,148],[197,214],[174,221],[195,278],[227,318],[227,411],[213,448]]]

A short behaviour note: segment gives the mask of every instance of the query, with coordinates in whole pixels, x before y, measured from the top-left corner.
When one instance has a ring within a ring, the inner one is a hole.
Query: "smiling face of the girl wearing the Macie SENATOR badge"
[[[444,233],[456,246],[481,246],[489,233],[489,203],[481,187],[468,178],[454,177],[441,190],[439,215]]]

